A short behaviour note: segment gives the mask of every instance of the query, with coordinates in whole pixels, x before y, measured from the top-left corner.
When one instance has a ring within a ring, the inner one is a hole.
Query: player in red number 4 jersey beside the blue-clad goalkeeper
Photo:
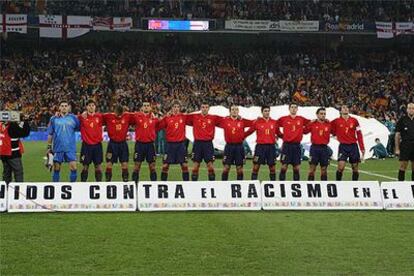
[[[103,115],[96,112],[96,103],[89,99],[86,103],[86,113],[78,116],[82,137],[80,162],[83,165],[81,181],[88,180],[89,165],[93,162],[95,166],[95,180],[102,181],[102,127]]]

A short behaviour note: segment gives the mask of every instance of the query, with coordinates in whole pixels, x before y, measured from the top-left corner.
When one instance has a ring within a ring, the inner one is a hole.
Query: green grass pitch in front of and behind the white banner
[[[45,143],[25,146],[25,180],[50,181]],[[220,160],[215,165],[219,179]],[[387,181],[398,162],[368,160],[361,169],[361,180]],[[245,178],[250,170],[248,160]],[[119,171],[115,166],[114,180]],[[144,165],[141,179],[148,178]],[[267,168],[260,178],[268,179]],[[179,167],[171,167],[170,180],[180,179]],[[413,229],[410,211],[3,213],[0,275],[414,275]]]

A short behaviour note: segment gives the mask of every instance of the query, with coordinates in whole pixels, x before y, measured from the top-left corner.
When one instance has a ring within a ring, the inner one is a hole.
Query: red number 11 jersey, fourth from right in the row
[[[279,125],[276,120],[259,118],[247,130],[246,137],[256,131],[257,144],[275,144],[279,134]]]

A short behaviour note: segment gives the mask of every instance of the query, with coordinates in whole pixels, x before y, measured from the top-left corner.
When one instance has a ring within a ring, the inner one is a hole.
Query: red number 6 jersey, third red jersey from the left
[[[157,135],[159,124],[158,118],[152,113],[133,113],[130,123],[135,125],[135,141],[141,143],[152,143]]]

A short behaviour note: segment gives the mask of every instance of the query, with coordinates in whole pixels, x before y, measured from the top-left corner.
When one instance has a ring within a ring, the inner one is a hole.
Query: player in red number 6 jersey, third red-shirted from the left
[[[159,126],[159,120],[154,116],[151,110],[150,102],[142,103],[142,112],[134,113],[130,123],[135,125],[135,153],[134,153],[134,172],[132,180],[135,183],[139,181],[139,172],[141,164],[147,161],[151,181],[157,181],[157,172],[155,170],[155,138]]]

